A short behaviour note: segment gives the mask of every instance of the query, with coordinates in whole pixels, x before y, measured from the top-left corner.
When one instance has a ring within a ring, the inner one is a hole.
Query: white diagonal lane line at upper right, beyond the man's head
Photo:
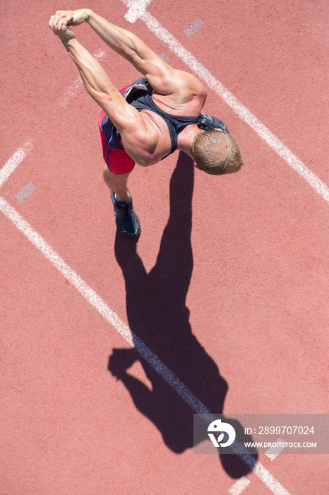
[[[128,4],[130,6],[128,12],[131,11],[133,6],[131,6],[131,0],[121,0],[124,2],[124,4]],[[273,132],[270,132],[270,130],[261,122],[258,120],[258,118],[253,115],[248,108],[246,108],[243,103],[241,103],[234,95],[231,93],[225,86],[218,81],[213,74],[208,71],[208,69],[205,69],[205,66],[198,62],[196,57],[194,57],[186,48],[181,45],[181,43],[171,34],[169,31],[163,27],[163,25],[157,21],[155,17],[153,17],[148,11],[145,9],[145,5],[143,4],[143,1],[140,3],[137,2],[138,4],[138,9],[136,9],[135,16],[128,16],[126,14],[125,18],[127,21],[133,23],[135,22],[138,18],[140,18],[152,31],[152,33],[157,36],[160,40],[162,40],[166,45],[169,46],[169,49],[172,50],[175,54],[177,54],[177,57],[179,57],[184,64],[189,66],[189,69],[193,71],[197,76],[199,76],[208,86],[210,89],[215,91],[217,95],[222,98],[222,100],[229,105],[229,107],[232,108],[232,110],[239,115],[239,117],[246,122],[246,124],[249,124],[249,126],[258,134],[258,136],[261,137],[265,141],[265,143],[270,146],[270,148],[275,151],[281,158],[283,158],[290,167],[292,167],[294,170],[296,170],[301,177],[306,180],[306,182],[309,182],[309,185],[313,187],[318,194],[320,194],[323,199],[325,199],[326,202],[329,202],[329,187],[325,185],[324,182],[319,179],[319,177],[313,173],[304,163],[297,158],[292,151],[289,150],[285,144],[280,141],[280,139],[273,134]],[[139,16],[137,16],[137,12],[139,12]]]

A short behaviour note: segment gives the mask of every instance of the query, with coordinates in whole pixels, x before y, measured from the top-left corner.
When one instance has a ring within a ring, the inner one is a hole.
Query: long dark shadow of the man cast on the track
[[[169,368],[208,411],[221,414],[227,382],[191,331],[186,294],[193,270],[191,247],[194,168],[191,158],[179,153],[170,181],[170,214],[164,228],[157,262],[145,271],[136,252],[136,241],[116,233],[115,255],[126,282],[126,310],[133,330],[135,349],[114,349],[109,371],[124,383],[137,409],[162,433],[164,443],[175,453],[193,447],[191,405],[177,394],[138,352],[140,342]],[[202,241],[201,241],[202,242]],[[213,329],[216,332],[216,329]],[[143,352],[142,352],[143,354]],[[140,361],[152,390],[127,369]],[[166,373],[164,371],[164,373]],[[163,373],[162,373],[163,374]],[[184,391],[182,392],[184,395]],[[193,400],[193,398],[192,398]],[[188,401],[189,402],[189,401]],[[201,408],[202,409],[202,408]],[[199,411],[198,411],[199,412]],[[202,412],[200,410],[200,412]],[[203,434],[198,441],[208,438]],[[222,455],[222,465],[233,478],[251,471],[237,455]]]

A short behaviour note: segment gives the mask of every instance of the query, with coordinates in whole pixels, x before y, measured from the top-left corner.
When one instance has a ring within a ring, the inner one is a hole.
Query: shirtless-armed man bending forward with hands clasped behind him
[[[144,78],[121,91],[97,60],[76,40],[68,25],[86,22]],[[49,26],[80,71],[86,90],[100,105],[104,181],[111,190],[116,226],[130,238],[140,235],[127,179],[135,163],[154,165],[176,149],[206,173],[222,175],[242,166],[239,146],[225,124],[201,113],[207,93],[192,74],[172,69],[136,35],[89,8],[57,11]]]

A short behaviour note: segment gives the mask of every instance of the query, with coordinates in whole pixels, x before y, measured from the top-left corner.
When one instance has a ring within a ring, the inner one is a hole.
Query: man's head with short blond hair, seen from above
[[[198,168],[212,175],[234,173],[243,165],[237,141],[227,132],[216,129],[193,137],[192,155]]]

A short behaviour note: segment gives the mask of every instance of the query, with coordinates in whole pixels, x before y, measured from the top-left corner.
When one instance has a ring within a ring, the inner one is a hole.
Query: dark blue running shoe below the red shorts
[[[117,228],[125,237],[138,238],[140,236],[140,223],[133,209],[133,199],[130,197],[126,203],[118,201],[113,191],[111,191],[111,197]]]

